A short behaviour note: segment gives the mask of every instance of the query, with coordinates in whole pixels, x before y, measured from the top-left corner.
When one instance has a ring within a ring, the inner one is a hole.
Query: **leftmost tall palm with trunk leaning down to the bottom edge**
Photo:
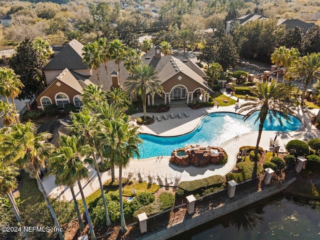
[[[40,167],[44,166],[44,158],[53,149],[53,146],[47,143],[51,134],[47,132],[36,133],[36,126],[32,122],[13,125],[8,131],[10,133],[7,139],[2,142],[2,148],[10,152],[4,156],[4,161],[14,162],[19,168],[28,172],[31,178],[36,179],[55,226],[59,229],[57,217],[38,174]],[[61,240],[64,239],[61,231],[58,231],[58,234]]]

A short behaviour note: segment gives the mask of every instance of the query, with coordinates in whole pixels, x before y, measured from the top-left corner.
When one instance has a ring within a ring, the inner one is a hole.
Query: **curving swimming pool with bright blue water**
[[[245,133],[258,130],[258,123],[253,124],[256,114],[243,121],[243,115],[232,112],[213,112],[201,118],[197,127],[186,134],[180,136],[155,136],[150,134],[138,134],[143,140],[139,144],[140,158],[147,158],[158,155],[171,155],[173,149],[183,147],[188,144],[200,144],[203,146],[218,146],[227,139],[232,138],[237,132]],[[301,121],[290,115],[290,120],[282,119],[280,122],[272,118],[266,118],[263,130],[273,131],[294,131],[302,126]]]

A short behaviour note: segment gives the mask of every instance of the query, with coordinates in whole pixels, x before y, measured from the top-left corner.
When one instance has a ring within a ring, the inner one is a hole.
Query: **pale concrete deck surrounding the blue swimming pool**
[[[224,93],[227,94],[227,93]],[[234,96],[231,96],[235,98]],[[236,98],[235,98],[236,99]],[[241,104],[244,100],[239,99],[239,104]],[[293,109],[292,109],[293,110]],[[141,133],[150,133],[150,134],[157,134],[160,136],[174,136],[187,133],[193,130],[197,124],[199,123],[201,117],[204,114],[211,113],[211,112],[237,112],[237,108],[235,105],[230,106],[220,106],[220,107],[207,107],[207,108],[199,108],[199,109],[190,109],[190,108],[171,108],[166,114],[170,114],[171,112],[177,114],[183,111],[187,111],[189,113],[189,117],[185,117],[183,115],[182,118],[173,118],[171,119],[168,117],[167,120],[157,121],[150,125],[142,126],[140,128]],[[292,139],[301,139],[306,140],[307,133],[311,135],[318,135],[319,131],[313,126],[310,121],[311,116],[316,115],[318,109],[311,109],[307,110],[306,112],[302,111],[301,109],[294,109],[294,114],[298,117],[301,121],[303,126],[291,132],[279,132],[279,131],[262,131],[262,136],[260,140],[260,146],[263,149],[269,150],[269,138],[274,138],[275,134],[277,134],[277,139],[279,140],[279,145],[284,145]],[[148,115],[160,115],[160,113],[148,113]],[[161,113],[162,115],[163,113]],[[135,113],[133,116],[139,117],[143,115],[143,113]],[[144,174],[149,174],[149,171],[153,171],[154,175],[160,172],[162,175],[166,176],[166,173],[170,173],[172,177],[171,184],[168,184],[165,180],[158,181],[156,179],[152,179],[149,182],[154,184],[166,185],[166,186],[176,186],[179,181],[188,181],[188,180],[195,180],[201,179],[204,177],[208,177],[211,175],[222,175],[224,176],[226,173],[230,172],[234,165],[236,164],[236,154],[239,150],[239,147],[242,145],[255,145],[257,139],[258,132],[247,132],[240,135],[238,139],[233,139],[234,136],[230,136],[230,139],[220,144],[220,146],[227,152],[228,154],[228,161],[224,165],[209,165],[206,167],[194,167],[194,166],[187,166],[187,167],[178,167],[171,163],[169,163],[170,156],[163,156],[162,159],[156,159],[157,157],[150,157],[146,159],[132,159],[129,165],[122,170],[122,176],[126,177],[125,172],[128,172],[131,168],[135,168],[135,173],[131,177],[137,180],[137,172],[139,168],[143,168]],[[177,172],[181,172],[181,178],[179,181],[175,180],[175,175]],[[106,171],[100,173],[102,182],[109,180],[111,178],[111,172]],[[115,169],[115,177],[118,177],[118,168]],[[145,179],[146,180],[146,179]],[[60,199],[70,201],[72,200],[71,192],[68,187],[64,186],[56,186],[54,184],[54,176],[49,175],[45,176],[42,179],[43,186],[45,191],[53,196],[56,196]],[[81,181],[83,187],[83,193],[85,196],[90,195],[95,190],[99,189],[98,180],[95,174],[95,171],[89,168],[89,177],[88,179],[84,179]],[[76,198],[80,199],[81,196],[79,194],[79,190],[77,184],[74,186],[74,192],[76,194]]]

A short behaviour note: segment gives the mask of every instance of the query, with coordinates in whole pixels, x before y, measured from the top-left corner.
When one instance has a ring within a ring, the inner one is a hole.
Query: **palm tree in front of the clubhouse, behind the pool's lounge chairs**
[[[132,76],[126,80],[124,85],[128,87],[128,92],[135,92],[142,97],[144,120],[146,120],[146,94],[148,92],[161,94],[163,89],[161,82],[158,80],[154,68],[146,64],[134,66],[130,73]]]

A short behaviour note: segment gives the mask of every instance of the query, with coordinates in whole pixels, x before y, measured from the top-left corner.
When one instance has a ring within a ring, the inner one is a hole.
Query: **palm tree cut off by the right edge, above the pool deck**
[[[305,91],[308,87],[310,80],[313,77],[319,76],[320,71],[320,52],[307,53],[306,56],[299,57],[296,61],[295,67],[290,67],[291,71],[289,74],[296,74],[297,76],[304,79],[304,87],[301,94],[301,102],[304,103]]]

